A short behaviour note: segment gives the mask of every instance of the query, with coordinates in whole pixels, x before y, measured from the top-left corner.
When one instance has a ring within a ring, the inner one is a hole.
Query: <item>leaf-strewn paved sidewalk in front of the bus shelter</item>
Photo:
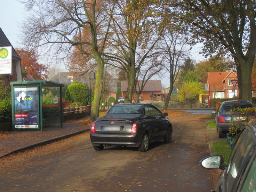
[[[51,127],[43,127],[43,132],[37,130],[16,130],[0,132],[0,158],[29,148],[45,145],[57,140],[80,134],[90,129],[90,116],[76,120],[68,120]]]

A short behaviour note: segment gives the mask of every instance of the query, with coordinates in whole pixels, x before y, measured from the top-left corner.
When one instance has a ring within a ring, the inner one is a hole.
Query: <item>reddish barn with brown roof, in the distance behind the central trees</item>
[[[141,87],[142,81],[139,81],[140,87]],[[128,87],[128,81],[121,81],[121,95],[122,97],[125,97],[126,91]],[[137,85],[137,90],[139,90]],[[140,93],[140,100],[143,101],[151,101],[150,94],[153,92],[154,94],[154,101],[161,101],[161,95],[162,95],[162,82],[161,80],[148,80],[147,83],[144,86],[143,91]],[[136,96],[133,93],[132,94],[132,100],[136,100]]]

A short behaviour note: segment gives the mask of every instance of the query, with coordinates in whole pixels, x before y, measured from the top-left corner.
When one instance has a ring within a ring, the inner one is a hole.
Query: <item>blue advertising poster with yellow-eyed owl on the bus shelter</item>
[[[38,87],[14,88],[15,128],[38,128]]]

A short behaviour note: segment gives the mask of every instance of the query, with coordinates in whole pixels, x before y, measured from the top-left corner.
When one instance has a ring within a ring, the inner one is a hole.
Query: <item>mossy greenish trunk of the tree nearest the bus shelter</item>
[[[101,58],[97,58],[96,61],[97,61],[98,70],[96,73],[95,91],[94,91],[94,98],[92,101],[92,114],[91,114],[92,121],[95,121],[99,117],[100,96],[101,96],[103,73],[104,73],[104,60]]]

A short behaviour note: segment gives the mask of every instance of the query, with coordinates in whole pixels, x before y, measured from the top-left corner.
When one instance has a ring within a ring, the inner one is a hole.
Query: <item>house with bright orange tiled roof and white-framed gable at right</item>
[[[235,87],[232,82],[236,85]],[[237,73],[235,71],[208,72],[207,83],[210,85],[211,99],[239,97]]]

